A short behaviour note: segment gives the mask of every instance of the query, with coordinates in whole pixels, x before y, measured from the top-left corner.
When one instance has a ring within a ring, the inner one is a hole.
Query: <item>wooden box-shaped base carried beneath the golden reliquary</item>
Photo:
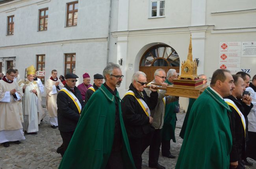
[[[167,91],[165,95],[170,96],[179,96],[179,97],[189,97],[193,99],[197,99],[202,92],[208,87],[208,85],[202,85],[197,88],[187,88],[181,86],[167,86]]]

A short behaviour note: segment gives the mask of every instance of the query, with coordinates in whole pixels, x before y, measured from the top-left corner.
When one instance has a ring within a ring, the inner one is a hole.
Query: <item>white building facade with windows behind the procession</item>
[[[68,7],[74,2],[77,5],[71,10],[73,21],[68,23],[77,24],[67,26],[67,20],[70,20]],[[58,70],[59,75],[72,70],[82,83],[83,73],[88,72],[91,76],[102,73],[107,62],[119,63],[122,59],[124,79],[119,88],[122,95],[137,70],[147,69],[148,79],[160,67],[168,70],[174,66],[179,70],[177,64],[186,60],[192,34],[193,58],[199,59],[198,74],[204,73],[210,78],[223,64],[233,72],[244,68],[250,70],[252,76],[256,74],[256,1],[74,2],[13,0],[0,4],[0,20],[3,23],[0,27],[2,72],[5,73],[8,64],[11,64],[7,61],[13,61],[14,68],[24,77],[25,68],[31,64],[42,64],[37,57],[44,55],[46,79],[52,69]],[[42,27],[40,9],[47,8],[47,30],[39,31]],[[75,14],[76,9],[78,13]],[[13,35],[8,35],[8,25],[12,24],[8,22],[8,17],[13,15],[14,31]],[[249,46],[246,46],[247,43]],[[222,50],[221,44],[227,44],[228,48]],[[67,57],[74,54],[75,62],[68,62]],[[231,56],[231,59],[223,62],[222,54],[228,58]],[[174,61],[175,57],[178,60]],[[184,109],[186,101],[182,100]]]

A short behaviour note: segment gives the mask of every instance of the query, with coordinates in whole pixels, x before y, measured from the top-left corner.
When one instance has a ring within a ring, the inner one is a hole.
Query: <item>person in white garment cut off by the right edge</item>
[[[246,91],[250,92],[253,104],[253,107],[247,116],[249,141],[247,142],[246,154],[248,157],[256,160],[256,75],[252,77],[252,83],[249,84]]]

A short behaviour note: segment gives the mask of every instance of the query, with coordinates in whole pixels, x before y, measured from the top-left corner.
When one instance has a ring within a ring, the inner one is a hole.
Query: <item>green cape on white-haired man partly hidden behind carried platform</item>
[[[167,79],[165,80],[165,83],[168,83],[169,85],[173,85],[173,83],[169,82]],[[165,105],[165,116],[163,120],[163,128],[161,130],[162,133],[162,139],[163,140],[171,140],[173,139],[173,142],[176,143],[175,139],[175,127],[176,127],[176,113],[174,113],[175,106],[178,106],[179,101],[171,102],[167,105]]]

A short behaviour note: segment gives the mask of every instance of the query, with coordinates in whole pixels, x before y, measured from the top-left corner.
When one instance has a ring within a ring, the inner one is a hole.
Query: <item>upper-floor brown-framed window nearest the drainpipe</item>
[[[67,4],[67,25],[76,26],[78,16],[78,1]]]

